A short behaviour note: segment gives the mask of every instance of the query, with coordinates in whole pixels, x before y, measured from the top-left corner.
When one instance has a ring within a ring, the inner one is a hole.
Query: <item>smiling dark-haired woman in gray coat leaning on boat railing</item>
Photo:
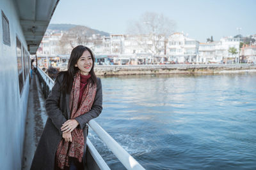
[[[86,123],[102,111],[102,87],[93,71],[94,60],[90,48],[76,46],[68,61],[68,71],[58,74],[46,100],[49,118],[31,169],[84,168]]]

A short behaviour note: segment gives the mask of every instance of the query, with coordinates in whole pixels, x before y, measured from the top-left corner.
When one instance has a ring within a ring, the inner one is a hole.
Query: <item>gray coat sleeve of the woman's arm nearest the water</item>
[[[102,111],[102,85],[100,78],[97,79],[97,91],[91,110],[75,118],[79,123],[79,128],[81,129],[83,129],[86,123],[88,123],[91,119],[99,117]]]

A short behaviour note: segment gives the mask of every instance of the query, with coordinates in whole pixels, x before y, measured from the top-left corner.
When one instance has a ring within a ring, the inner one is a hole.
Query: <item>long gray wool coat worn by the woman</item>
[[[36,152],[31,164],[31,170],[39,169],[54,169],[55,155],[57,147],[62,139],[61,126],[70,118],[69,109],[69,94],[64,94],[60,92],[61,78],[57,78],[52,87],[51,94],[46,100],[45,108],[47,111],[47,122],[42,132],[40,141],[36,148]],[[84,155],[83,164],[85,163],[85,153],[86,153],[86,123],[92,118],[96,118],[100,115],[102,111],[102,86],[100,78],[97,78],[97,92],[95,99],[93,101],[92,109],[88,113],[84,113],[77,118],[79,125],[77,128],[83,129],[84,134]]]

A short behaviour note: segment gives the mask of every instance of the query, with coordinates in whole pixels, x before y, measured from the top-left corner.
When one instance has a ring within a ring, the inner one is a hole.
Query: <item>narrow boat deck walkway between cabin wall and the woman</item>
[[[22,169],[30,169],[36,146],[47,119],[45,99],[40,89],[38,77],[33,73],[29,87],[28,111],[24,140]]]

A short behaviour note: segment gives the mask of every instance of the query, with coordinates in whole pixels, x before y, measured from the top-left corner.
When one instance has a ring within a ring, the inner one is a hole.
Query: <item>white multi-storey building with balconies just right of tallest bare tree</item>
[[[168,61],[175,63],[196,62],[199,42],[188,38],[182,32],[175,32],[168,38],[166,54]]]

